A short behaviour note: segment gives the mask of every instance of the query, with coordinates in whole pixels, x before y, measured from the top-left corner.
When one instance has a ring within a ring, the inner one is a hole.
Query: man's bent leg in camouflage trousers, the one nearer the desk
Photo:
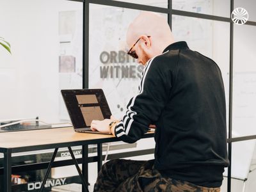
[[[140,167],[146,162],[147,161],[133,161],[125,159],[113,159],[108,161],[103,164],[98,174],[94,191],[115,191],[120,183],[138,173]]]

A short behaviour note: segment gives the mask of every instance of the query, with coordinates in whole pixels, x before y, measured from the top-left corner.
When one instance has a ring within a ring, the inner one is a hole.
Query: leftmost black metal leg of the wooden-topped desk
[[[12,191],[12,151],[7,149],[4,152],[4,191]]]

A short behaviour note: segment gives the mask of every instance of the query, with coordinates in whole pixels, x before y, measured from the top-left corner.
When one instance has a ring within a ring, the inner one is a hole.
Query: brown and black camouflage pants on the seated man
[[[220,192],[161,176],[154,161],[113,159],[105,163],[98,175],[94,191],[116,192]]]

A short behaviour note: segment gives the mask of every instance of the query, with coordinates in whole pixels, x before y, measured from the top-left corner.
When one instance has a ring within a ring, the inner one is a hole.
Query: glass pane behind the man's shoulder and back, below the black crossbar
[[[230,24],[173,15],[172,26],[176,41],[186,41],[191,50],[211,58],[220,67],[225,86],[228,128]]]

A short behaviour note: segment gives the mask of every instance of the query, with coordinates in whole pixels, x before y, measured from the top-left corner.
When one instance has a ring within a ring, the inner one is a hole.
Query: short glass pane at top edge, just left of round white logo
[[[230,17],[229,0],[172,0],[173,10]]]

